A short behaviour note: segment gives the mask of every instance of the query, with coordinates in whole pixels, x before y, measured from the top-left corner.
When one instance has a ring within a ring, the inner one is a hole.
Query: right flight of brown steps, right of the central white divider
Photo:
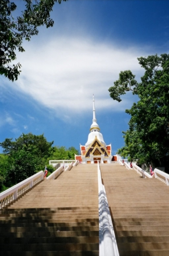
[[[169,256],[169,187],[118,163],[100,169],[120,256]]]

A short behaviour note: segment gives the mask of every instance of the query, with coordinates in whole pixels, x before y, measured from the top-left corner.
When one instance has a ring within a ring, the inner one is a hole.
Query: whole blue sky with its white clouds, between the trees
[[[13,0],[17,14],[23,0]],[[144,70],[137,57],[169,53],[168,0],[69,0],[55,4],[54,27],[40,27],[38,36],[24,41],[18,81],[0,77],[0,142],[22,133],[44,133],[54,145],[87,141],[92,123],[92,96],[104,140],[112,153],[124,144],[125,114],[137,97],[121,103],[108,89],[121,70],[131,69],[137,80]],[[2,149],[0,149],[2,151]]]

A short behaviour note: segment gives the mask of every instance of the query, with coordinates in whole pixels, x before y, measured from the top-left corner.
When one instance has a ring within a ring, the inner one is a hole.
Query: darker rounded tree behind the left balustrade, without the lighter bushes
[[[5,173],[5,184],[10,187],[44,169],[47,158],[53,153],[52,142],[44,135],[22,134],[18,139],[5,139],[0,143],[8,156],[9,168]]]

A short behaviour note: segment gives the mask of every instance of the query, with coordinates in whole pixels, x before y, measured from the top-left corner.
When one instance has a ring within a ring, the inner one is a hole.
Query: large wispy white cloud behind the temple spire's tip
[[[93,94],[97,109],[124,111],[131,107],[130,97],[118,103],[109,97],[108,89],[121,70],[142,74],[137,57],[147,54],[141,49],[67,37],[27,46],[26,52],[19,54],[22,73],[15,89],[54,110],[57,116],[69,119],[91,110]]]

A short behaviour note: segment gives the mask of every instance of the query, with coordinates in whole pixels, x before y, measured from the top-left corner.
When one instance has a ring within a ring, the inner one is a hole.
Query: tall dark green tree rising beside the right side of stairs
[[[141,82],[130,70],[121,71],[119,80],[109,88],[110,96],[119,102],[120,95],[128,91],[139,97],[131,109],[126,109],[131,120],[124,133],[125,146],[118,152],[140,163],[165,166],[169,172],[169,54],[138,60],[145,68]]]

